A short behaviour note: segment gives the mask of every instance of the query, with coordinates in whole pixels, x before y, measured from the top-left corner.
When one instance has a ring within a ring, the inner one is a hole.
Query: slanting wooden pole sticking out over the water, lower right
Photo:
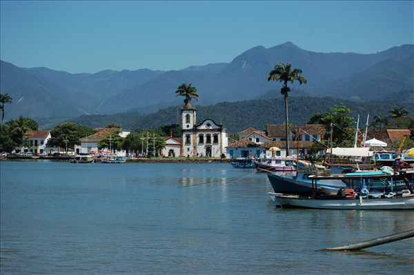
[[[375,245],[384,245],[384,243],[391,243],[393,241],[400,241],[404,238],[414,237],[414,230],[408,230],[397,234],[392,234],[380,238],[373,238],[372,240],[363,241],[360,243],[353,243],[351,245],[344,245],[333,248],[321,249],[319,251],[346,251],[346,250],[359,250],[367,247],[373,247]]]

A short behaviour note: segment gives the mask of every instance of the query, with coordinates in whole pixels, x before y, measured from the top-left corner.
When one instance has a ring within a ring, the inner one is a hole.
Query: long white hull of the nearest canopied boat
[[[414,194],[395,198],[313,199],[276,194],[282,207],[302,207],[332,210],[412,210]]]

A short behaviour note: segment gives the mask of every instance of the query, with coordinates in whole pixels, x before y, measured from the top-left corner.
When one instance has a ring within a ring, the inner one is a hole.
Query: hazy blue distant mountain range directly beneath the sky
[[[293,84],[292,96],[369,101],[414,90],[414,45],[356,54],[310,52],[288,42],[272,48],[251,48],[230,63],[171,71],[105,70],[95,74],[19,68],[1,61],[1,93],[13,99],[6,106],[5,121],[18,116],[65,119],[82,114],[148,114],[181,104],[183,99],[175,96],[181,83],[192,83],[197,88],[199,105],[280,96],[282,84],[267,79],[270,70],[281,61],[302,69],[308,80],[306,85]]]

